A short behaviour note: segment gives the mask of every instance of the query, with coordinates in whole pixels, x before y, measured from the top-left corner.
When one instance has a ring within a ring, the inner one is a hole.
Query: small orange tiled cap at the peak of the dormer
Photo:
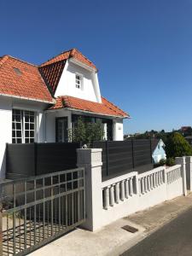
[[[91,61],[89,61],[84,55],[82,55],[82,53],[79,52],[78,49],[75,49],[75,48],[64,51],[60,55],[56,55],[55,57],[51,58],[49,61],[46,61],[43,64],[41,64],[39,67],[44,67],[49,64],[53,64],[57,61],[64,61],[72,57],[96,69],[96,66]]]

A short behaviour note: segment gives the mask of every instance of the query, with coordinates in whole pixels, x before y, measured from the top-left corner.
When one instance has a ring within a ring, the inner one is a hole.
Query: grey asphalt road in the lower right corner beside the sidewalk
[[[192,208],[131,247],[122,256],[192,256]]]

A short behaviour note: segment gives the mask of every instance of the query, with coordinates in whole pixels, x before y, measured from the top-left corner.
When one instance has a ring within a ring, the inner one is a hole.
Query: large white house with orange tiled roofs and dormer
[[[79,116],[102,121],[106,139],[123,140],[129,114],[101,96],[97,68],[78,49],[40,66],[0,57],[0,177],[6,143],[67,142]]]

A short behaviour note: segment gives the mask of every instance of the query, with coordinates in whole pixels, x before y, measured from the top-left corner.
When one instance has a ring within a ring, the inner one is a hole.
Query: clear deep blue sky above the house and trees
[[[192,0],[0,0],[0,55],[39,64],[78,48],[125,132],[192,125]]]

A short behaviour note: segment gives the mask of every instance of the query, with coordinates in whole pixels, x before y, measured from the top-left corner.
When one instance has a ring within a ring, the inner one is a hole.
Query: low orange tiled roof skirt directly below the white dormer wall
[[[82,100],[73,96],[60,96],[56,98],[56,103],[49,109],[58,108],[73,108],[79,109],[85,112],[98,113],[102,115],[117,116],[122,118],[129,118],[130,115],[125,113],[120,108],[108,102],[107,99],[102,97],[102,103],[90,102]]]

